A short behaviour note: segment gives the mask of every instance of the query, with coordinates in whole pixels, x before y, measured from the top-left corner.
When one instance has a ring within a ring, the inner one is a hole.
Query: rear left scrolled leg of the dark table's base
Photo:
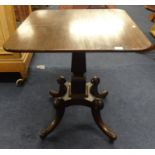
[[[66,82],[66,79],[64,78],[64,76],[60,76],[58,79],[57,79],[57,82],[58,84],[60,85],[59,86],[59,91],[54,91],[54,90],[50,90],[49,91],[49,94],[52,96],[52,97],[60,97],[60,96],[63,96],[65,95],[65,93],[67,92],[67,88],[65,86],[65,82]]]

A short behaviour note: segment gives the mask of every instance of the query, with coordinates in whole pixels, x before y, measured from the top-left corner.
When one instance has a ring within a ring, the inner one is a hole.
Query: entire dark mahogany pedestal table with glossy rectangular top
[[[66,107],[84,105],[91,108],[96,124],[110,140],[117,136],[100,115],[108,91],[98,92],[96,76],[86,82],[86,52],[144,52],[151,47],[128,14],[119,9],[34,11],[4,44],[9,52],[72,53],[71,82],[60,76],[59,90],[50,91],[56,116],[42,130],[41,138],[59,124]]]

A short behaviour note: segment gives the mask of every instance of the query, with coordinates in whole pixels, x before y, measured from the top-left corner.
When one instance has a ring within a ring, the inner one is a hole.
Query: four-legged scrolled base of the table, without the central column
[[[113,133],[107,125],[102,121],[100,110],[103,109],[103,99],[108,95],[107,91],[98,93],[98,84],[100,82],[98,77],[92,78],[91,82],[85,84],[85,93],[71,93],[71,83],[67,82],[61,76],[57,82],[60,85],[59,91],[50,91],[50,95],[54,98],[54,107],[56,109],[55,119],[49,123],[46,129],[43,129],[40,137],[44,139],[51,133],[60,123],[64,115],[65,108],[71,105],[84,105],[91,108],[92,115],[98,127],[110,138],[116,140],[117,136]]]

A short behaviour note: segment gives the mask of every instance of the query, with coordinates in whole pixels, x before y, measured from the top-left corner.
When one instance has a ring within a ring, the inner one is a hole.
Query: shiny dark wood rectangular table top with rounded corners
[[[150,47],[120,9],[34,11],[4,44],[11,52],[141,52]]]

